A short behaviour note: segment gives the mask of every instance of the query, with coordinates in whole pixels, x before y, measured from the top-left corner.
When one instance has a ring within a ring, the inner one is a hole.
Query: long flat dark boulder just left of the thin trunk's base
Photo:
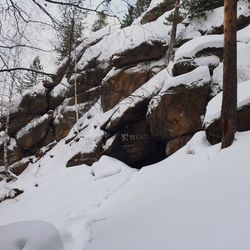
[[[112,65],[116,68],[122,68],[139,62],[160,59],[165,55],[166,50],[167,46],[164,41],[146,41],[137,47],[114,54]]]

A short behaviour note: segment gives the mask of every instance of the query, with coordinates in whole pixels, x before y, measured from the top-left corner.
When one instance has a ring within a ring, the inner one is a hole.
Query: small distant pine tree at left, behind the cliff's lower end
[[[43,65],[39,56],[36,56],[33,59],[32,64],[29,66],[30,69],[35,71],[42,71]],[[22,93],[24,90],[35,86],[39,81],[42,80],[43,75],[35,71],[28,71],[24,76],[21,84],[18,86],[18,92]]]

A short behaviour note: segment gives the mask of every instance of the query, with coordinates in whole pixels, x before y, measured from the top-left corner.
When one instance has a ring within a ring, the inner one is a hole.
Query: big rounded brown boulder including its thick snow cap
[[[156,140],[192,134],[202,129],[210,92],[208,67],[199,67],[168,79],[159,96],[150,102],[147,121]]]

